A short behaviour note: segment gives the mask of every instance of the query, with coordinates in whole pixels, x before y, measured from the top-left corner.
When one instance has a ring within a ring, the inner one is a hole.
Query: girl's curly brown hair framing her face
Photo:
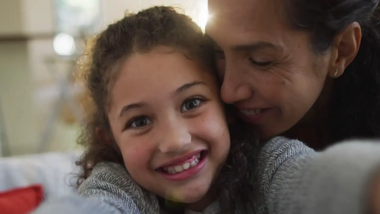
[[[97,130],[105,132],[105,136],[112,136],[107,110],[110,91],[124,59],[133,53],[147,53],[158,46],[168,46],[174,51],[181,51],[189,59],[202,62],[211,72],[216,71],[212,45],[202,30],[188,16],[171,7],[156,6],[129,14],[109,25],[94,40],[89,40],[87,46],[74,70],[74,75],[86,82],[88,96],[84,100],[84,110],[89,114],[78,138],[85,152],[77,162],[82,168],[77,186],[90,176],[99,162],[112,161],[124,165],[114,139],[106,143],[97,137]],[[245,137],[246,126],[239,124],[230,128],[230,154],[213,186],[220,194],[220,203],[226,213],[235,209],[238,198],[248,200],[249,194],[242,190],[252,188],[247,168],[253,164],[249,159],[255,154],[254,143]]]

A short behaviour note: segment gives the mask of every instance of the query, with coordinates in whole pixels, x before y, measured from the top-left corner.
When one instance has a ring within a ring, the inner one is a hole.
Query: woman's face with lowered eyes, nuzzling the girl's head
[[[209,0],[206,34],[215,42],[223,101],[266,139],[287,131],[318,99],[330,53],[315,55],[305,32],[290,30],[277,1]]]

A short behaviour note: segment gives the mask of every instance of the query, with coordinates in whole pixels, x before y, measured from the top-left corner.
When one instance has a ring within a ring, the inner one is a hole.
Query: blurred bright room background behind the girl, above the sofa
[[[73,66],[84,39],[154,5],[180,7],[204,29],[207,0],[0,0],[0,157],[79,149]]]

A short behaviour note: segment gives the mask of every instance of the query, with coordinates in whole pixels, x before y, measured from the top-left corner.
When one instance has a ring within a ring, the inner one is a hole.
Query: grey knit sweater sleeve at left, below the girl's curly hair
[[[98,163],[78,195],[52,198],[33,214],[158,214],[157,197],[142,190],[119,164]]]

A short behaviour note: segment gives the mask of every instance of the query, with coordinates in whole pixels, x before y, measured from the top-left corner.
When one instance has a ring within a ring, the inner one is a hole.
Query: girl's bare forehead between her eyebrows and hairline
[[[134,54],[125,60],[111,90],[113,106],[173,96],[185,84],[202,82],[217,89],[214,75],[180,52]]]

